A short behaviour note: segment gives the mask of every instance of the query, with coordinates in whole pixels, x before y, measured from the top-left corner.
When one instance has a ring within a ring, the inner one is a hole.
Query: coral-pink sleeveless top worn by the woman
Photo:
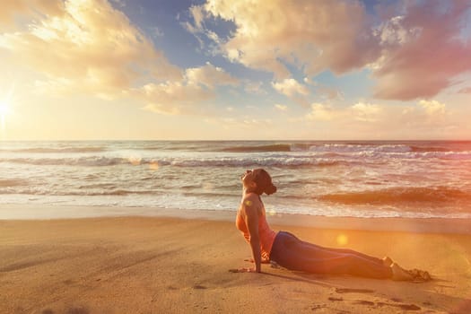
[[[236,227],[242,232],[245,240],[250,243],[250,233],[244,218],[240,215],[240,211],[237,212]],[[275,241],[276,232],[271,230],[268,222],[266,222],[265,208],[263,208],[262,214],[258,216],[258,237],[260,238],[262,258],[268,260],[270,259],[270,252]]]

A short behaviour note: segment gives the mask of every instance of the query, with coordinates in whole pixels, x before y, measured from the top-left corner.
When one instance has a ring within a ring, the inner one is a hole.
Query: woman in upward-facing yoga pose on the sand
[[[359,275],[393,280],[430,280],[427,272],[406,271],[389,257],[370,257],[351,249],[328,249],[299,240],[289,232],[275,232],[266,222],[261,195],[271,195],[276,187],[263,169],[247,170],[240,177],[242,201],[236,226],[249,242],[255,268],[238,272],[261,272],[261,264],[270,260],[285,268],[314,274]]]

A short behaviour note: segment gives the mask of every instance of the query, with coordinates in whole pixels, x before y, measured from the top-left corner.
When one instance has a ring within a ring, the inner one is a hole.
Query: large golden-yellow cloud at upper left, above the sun
[[[197,112],[198,101],[214,98],[216,86],[239,84],[211,63],[186,70],[170,64],[106,0],[7,3],[4,20],[20,13],[29,19],[24,29],[0,33],[0,52],[9,52],[9,63],[39,74],[36,92],[126,97],[144,101],[144,109],[181,114]]]

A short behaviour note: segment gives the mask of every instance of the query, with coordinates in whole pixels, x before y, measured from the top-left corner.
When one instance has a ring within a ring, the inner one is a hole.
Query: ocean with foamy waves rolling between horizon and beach
[[[471,218],[471,142],[0,142],[0,205],[235,211],[265,168],[268,214]]]

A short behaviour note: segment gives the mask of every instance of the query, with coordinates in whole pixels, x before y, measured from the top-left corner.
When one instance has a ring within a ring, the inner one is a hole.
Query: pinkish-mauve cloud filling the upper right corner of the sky
[[[401,15],[379,27],[383,49],[373,66],[374,94],[379,99],[432,98],[471,70],[469,44],[460,38],[471,4],[405,4]]]

